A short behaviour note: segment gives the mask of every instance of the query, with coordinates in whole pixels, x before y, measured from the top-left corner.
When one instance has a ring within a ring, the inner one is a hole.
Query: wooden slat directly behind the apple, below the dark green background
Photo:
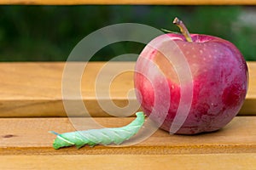
[[[62,103],[61,78],[64,62],[55,63],[0,63],[0,117],[14,116],[67,116]],[[73,63],[73,65],[83,65]],[[81,78],[81,93],[84,105],[91,116],[109,116],[98,104],[109,100],[123,107],[127,105],[127,94],[133,88],[135,62],[90,62],[86,65]],[[256,111],[256,62],[247,62],[249,67],[249,88],[247,99],[241,108],[241,115],[253,115]],[[107,68],[101,71],[102,68]],[[95,89],[96,77],[115,75],[115,71],[124,68],[126,72],[117,75],[112,82],[103,79]],[[72,81],[72,80],[71,80]],[[110,88],[109,88],[110,86]],[[72,87],[73,88],[73,87]],[[106,93],[111,99],[106,98]],[[100,95],[102,94],[102,95]],[[129,95],[131,102],[136,103],[135,94]],[[67,101],[76,103],[77,98],[70,96]],[[115,111],[115,110],[113,110]],[[74,116],[81,116],[76,113]]]

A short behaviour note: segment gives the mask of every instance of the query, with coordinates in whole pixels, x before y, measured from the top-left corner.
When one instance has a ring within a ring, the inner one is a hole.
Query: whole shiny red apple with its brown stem
[[[241,109],[247,94],[246,61],[231,42],[219,37],[189,34],[177,18],[173,23],[182,34],[156,37],[137,59],[134,76],[137,99],[145,114],[170,133],[216,131]],[[160,48],[171,53],[163,54]],[[182,55],[187,65],[177,65],[183,62],[173,61]],[[186,69],[188,65],[190,72]],[[181,104],[183,107],[179,108]],[[172,123],[178,120],[178,109],[179,120],[183,121],[176,122],[178,128],[172,132]]]

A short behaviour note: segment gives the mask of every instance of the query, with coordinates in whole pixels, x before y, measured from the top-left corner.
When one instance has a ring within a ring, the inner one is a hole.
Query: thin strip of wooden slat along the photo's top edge
[[[2,0],[0,4],[30,4],[30,5],[82,5],[82,4],[143,4],[143,5],[253,5],[256,4],[255,0],[183,0],[183,1],[174,1],[174,0]]]

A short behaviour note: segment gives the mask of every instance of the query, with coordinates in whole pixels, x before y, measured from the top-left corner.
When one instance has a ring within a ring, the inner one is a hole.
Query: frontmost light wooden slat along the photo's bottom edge
[[[1,169],[255,169],[256,154],[0,156]]]

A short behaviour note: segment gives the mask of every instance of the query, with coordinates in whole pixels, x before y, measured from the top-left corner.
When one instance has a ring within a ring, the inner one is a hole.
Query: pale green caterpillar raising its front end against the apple
[[[53,143],[53,148],[58,150],[61,147],[72,145],[75,145],[77,148],[81,148],[84,144],[88,144],[90,146],[94,146],[96,144],[121,144],[135,135],[143,126],[143,123],[145,122],[144,113],[137,112],[136,116],[137,118],[125,127],[90,129],[62,134],[50,131],[49,133],[57,135]]]

